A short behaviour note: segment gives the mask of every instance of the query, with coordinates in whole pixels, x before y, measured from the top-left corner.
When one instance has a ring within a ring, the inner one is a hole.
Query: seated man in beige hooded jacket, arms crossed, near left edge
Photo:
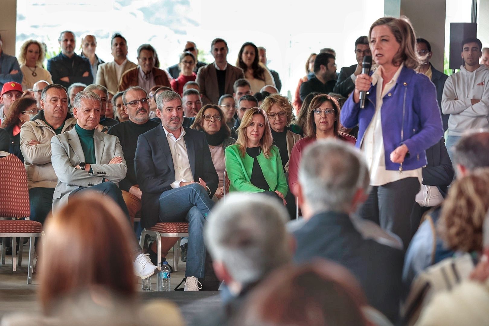
[[[41,223],[51,210],[58,178],[51,164],[51,138],[74,128],[65,87],[52,84],[41,93],[43,110],[21,127],[21,151],[29,185],[30,219]]]

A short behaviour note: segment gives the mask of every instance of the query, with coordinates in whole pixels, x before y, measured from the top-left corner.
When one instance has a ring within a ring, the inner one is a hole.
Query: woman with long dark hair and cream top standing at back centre
[[[241,46],[236,66],[243,69],[244,78],[249,82],[253,94],[258,93],[264,86],[275,86],[272,74],[259,61],[258,47],[255,44],[246,42]]]

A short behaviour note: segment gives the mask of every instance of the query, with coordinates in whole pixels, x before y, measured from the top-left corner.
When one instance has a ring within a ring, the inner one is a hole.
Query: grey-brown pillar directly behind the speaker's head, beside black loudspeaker
[[[445,11],[446,0],[400,1],[400,14],[409,18],[416,37],[421,37],[431,44],[433,56],[430,62],[440,71],[443,71],[445,55]]]

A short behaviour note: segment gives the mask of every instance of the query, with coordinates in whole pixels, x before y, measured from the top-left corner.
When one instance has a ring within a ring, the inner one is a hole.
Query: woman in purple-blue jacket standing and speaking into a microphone
[[[409,20],[378,19],[370,27],[369,43],[378,68],[371,76],[356,76],[340,121],[346,128],[358,125],[356,146],[369,167],[372,190],[360,216],[397,234],[407,248],[409,217],[426,165],[424,151],[440,141],[442,119],[435,86],[414,70],[421,58]]]

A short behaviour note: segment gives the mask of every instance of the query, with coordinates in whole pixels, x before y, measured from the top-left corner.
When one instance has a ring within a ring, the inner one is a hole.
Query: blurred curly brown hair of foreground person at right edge
[[[489,208],[489,168],[475,170],[450,187],[438,231],[450,249],[481,252]]]

